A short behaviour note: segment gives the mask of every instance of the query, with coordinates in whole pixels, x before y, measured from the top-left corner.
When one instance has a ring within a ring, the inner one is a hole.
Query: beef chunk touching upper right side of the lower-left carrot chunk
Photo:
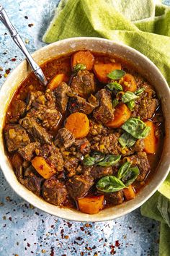
[[[43,156],[57,171],[63,171],[63,157],[55,145],[42,145],[38,155]]]

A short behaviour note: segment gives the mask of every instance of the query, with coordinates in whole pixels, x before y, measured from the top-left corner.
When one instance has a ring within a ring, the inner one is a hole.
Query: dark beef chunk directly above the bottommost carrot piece
[[[75,175],[66,183],[68,193],[74,200],[84,197],[94,184],[94,179],[89,175]]]

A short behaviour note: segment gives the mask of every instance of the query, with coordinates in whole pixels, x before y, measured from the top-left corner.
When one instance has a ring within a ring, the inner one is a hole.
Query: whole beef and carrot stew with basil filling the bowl
[[[83,213],[132,200],[154,175],[164,116],[135,67],[78,51],[30,74],[6,111],[4,143],[17,179],[45,201]]]

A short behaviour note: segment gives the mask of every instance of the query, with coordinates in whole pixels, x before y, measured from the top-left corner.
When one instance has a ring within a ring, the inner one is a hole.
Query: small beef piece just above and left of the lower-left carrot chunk
[[[22,155],[22,158],[24,158],[27,161],[30,161],[35,153],[35,150],[37,148],[40,148],[40,143],[39,142],[31,142],[28,145],[19,148],[18,153]]]

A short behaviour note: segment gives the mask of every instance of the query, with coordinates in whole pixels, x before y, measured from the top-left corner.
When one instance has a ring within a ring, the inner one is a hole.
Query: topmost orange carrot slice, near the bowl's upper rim
[[[71,56],[71,68],[73,69],[76,64],[84,64],[86,70],[91,70],[94,65],[94,56],[90,51],[77,51]]]

